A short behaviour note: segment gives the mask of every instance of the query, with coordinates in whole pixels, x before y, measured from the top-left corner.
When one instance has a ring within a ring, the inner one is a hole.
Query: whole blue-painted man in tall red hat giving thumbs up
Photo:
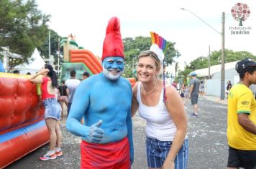
[[[131,168],[132,87],[121,77],[124,46],[120,21],[112,17],[106,28],[102,52],[103,72],[78,86],[67,129],[82,137],[81,168]],[[81,118],[84,117],[84,125]]]

